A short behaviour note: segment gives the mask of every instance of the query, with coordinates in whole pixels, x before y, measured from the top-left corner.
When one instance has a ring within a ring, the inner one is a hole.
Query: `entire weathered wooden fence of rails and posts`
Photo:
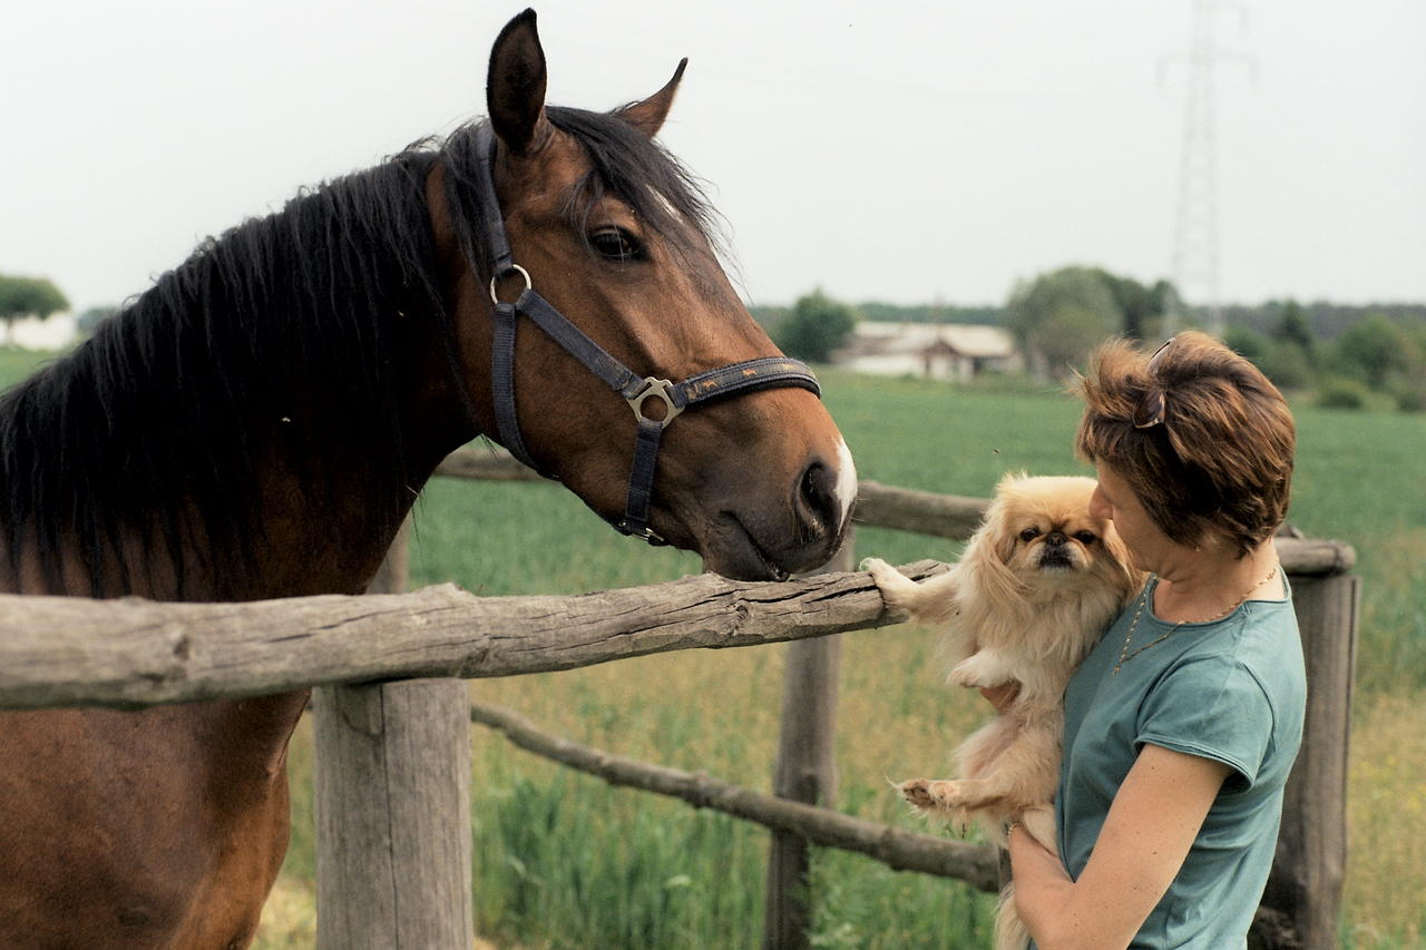
[[[473,449],[453,455],[439,474],[528,476],[512,461]],[[864,481],[858,522],[964,538],[984,505]],[[1355,555],[1338,542],[1302,538],[1283,538],[1279,548],[1293,583],[1310,698],[1255,940],[1326,950],[1336,943],[1346,859],[1358,596],[1348,571]],[[399,589],[404,551],[394,546],[374,589]],[[850,545],[840,556],[848,566]],[[940,569],[918,562],[907,571],[924,578]],[[702,575],[562,598],[475,598],[451,585],[242,605],[0,595],[0,708],[138,708],[318,686],[319,947],[471,946],[466,733],[473,719],[612,782],[680,795],[773,829],[764,947],[781,950],[807,940],[799,894],[809,840],[893,867],[995,886],[988,849],[868,824],[817,805],[834,800],[833,635],[904,619],[884,609],[867,575],[848,571],[784,583]],[[461,682],[773,642],[791,642],[794,650],[783,698],[780,799],[543,736],[512,713],[472,709]]]

